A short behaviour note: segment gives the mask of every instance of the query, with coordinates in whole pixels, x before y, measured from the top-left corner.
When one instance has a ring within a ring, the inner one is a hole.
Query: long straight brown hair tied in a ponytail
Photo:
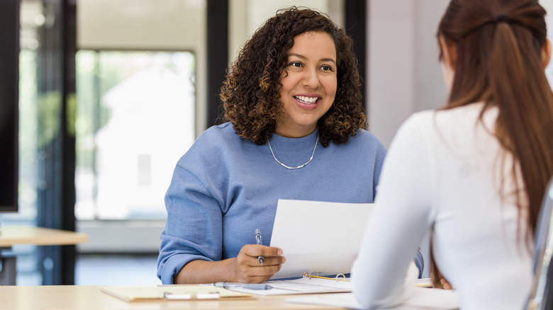
[[[514,195],[519,218],[527,221],[527,244],[553,176],[553,94],[541,58],[545,13],[537,0],[452,0],[437,32],[457,52],[445,109],[484,102],[482,117],[498,107],[494,134],[513,156],[510,176],[517,182],[515,193],[498,190],[503,198]]]

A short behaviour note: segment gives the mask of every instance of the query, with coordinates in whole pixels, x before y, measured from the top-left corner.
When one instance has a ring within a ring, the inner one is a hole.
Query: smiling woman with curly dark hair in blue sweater
[[[267,246],[279,199],[374,200],[386,149],[365,130],[352,40],[328,16],[294,7],[269,18],[220,98],[227,122],[196,139],[165,195],[164,284],[271,278],[286,262]]]

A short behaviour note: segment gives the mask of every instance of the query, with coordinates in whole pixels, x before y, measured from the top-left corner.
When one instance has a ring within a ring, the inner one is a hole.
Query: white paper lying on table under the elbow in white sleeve
[[[288,298],[286,302],[299,304],[318,304],[323,306],[342,306],[348,309],[363,309],[352,293],[315,294],[306,297]],[[388,309],[388,308],[387,308]],[[459,296],[450,289],[431,289],[415,287],[413,294],[403,304],[389,308],[390,310],[415,309],[459,309]]]

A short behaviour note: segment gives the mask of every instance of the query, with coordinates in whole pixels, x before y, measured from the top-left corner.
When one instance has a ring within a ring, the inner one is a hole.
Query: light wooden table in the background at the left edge
[[[10,250],[17,244],[36,246],[67,246],[84,243],[86,234],[35,226],[0,226],[0,285],[16,284],[16,258],[2,257],[2,250]]]

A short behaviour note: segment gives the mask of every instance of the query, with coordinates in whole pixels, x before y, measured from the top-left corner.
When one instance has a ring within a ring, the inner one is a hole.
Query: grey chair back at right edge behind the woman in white
[[[537,219],[534,250],[534,281],[525,310],[553,310],[553,178],[545,189]]]

